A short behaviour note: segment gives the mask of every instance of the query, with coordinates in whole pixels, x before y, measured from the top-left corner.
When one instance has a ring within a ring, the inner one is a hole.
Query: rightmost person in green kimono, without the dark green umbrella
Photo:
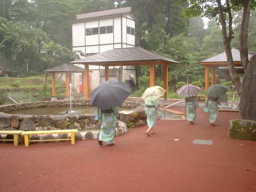
[[[217,122],[218,119],[218,103],[220,103],[220,97],[214,98],[214,97],[207,97],[205,100],[205,108],[208,108],[209,114],[210,114],[210,123],[212,126],[214,126],[214,123]]]

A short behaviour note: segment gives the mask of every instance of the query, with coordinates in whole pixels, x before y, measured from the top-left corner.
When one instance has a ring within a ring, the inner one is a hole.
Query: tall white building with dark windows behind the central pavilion
[[[131,8],[119,8],[100,12],[80,14],[72,20],[72,48],[81,50],[86,57],[111,50],[135,46],[135,18]],[[81,56],[81,58],[83,58]],[[83,64],[75,64],[84,68]],[[89,66],[90,90],[105,80],[104,67]],[[135,76],[134,66],[111,67],[109,79],[119,81],[130,80]],[[65,76],[61,76],[64,79]],[[82,84],[82,74],[73,74],[74,88]]]

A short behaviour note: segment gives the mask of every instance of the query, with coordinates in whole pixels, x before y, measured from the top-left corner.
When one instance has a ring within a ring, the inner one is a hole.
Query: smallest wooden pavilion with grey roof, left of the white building
[[[83,88],[85,86],[84,68],[74,66],[72,64],[63,64],[63,65],[45,70],[44,72],[52,74],[52,96],[53,97],[56,96],[56,94],[55,94],[55,73],[65,73],[66,74],[66,96],[69,96],[69,94],[70,94],[69,84],[72,82],[72,73],[82,73]]]

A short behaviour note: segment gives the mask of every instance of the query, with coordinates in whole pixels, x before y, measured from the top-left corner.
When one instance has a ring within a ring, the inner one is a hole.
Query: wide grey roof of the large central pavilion
[[[140,61],[140,60],[163,60],[169,63],[179,63],[171,60],[154,52],[148,51],[141,47],[129,47],[129,48],[116,48],[108,50],[102,53],[98,53],[83,59],[72,61],[71,63],[97,63],[100,62],[125,62],[125,61]],[[132,65],[132,64],[131,64]]]

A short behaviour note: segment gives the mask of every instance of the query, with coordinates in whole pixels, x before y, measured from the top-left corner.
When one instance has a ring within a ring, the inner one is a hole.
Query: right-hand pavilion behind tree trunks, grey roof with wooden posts
[[[232,52],[232,57],[234,60],[235,67],[242,67],[239,50],[232,49],[231,52]],[[251,56],[252,55],[248,54],[249,60],[250,60]],[[215,74],[216,67],[228,66],[226,52],[223,52],[221,54],[218,54],[218,55],[208,58],[206,60],[200,61],[200,64],[202,66],[205,66],[205,90],[207,90],[209,88],[210,68],[212,68],[212,85],[214,85],[215,84],[215,76],[216,76],[216,74]]]

